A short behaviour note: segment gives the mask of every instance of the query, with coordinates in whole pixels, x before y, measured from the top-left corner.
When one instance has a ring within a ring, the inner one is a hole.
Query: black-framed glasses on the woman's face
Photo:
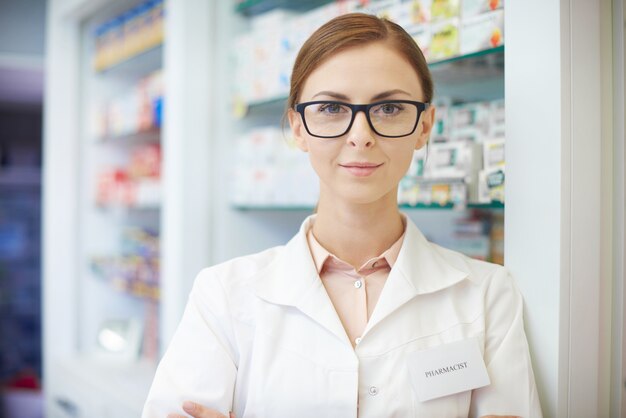
[[[338,138],[348,133],[358,112],[365,113],[370,128],[386,138],[401,138],[415,132],[420,115],[429,103],[412,100],[383,100],[370,104],[350,104],[332,100],[296,105],[304,127],[311,136]]]

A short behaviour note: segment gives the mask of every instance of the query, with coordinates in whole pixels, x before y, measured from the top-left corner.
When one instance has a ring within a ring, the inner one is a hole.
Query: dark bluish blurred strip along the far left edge
[[[0,1],[0,386],[11,391],[10,399],[5,401],[7,406],[33,417],[42,416],[43,410],[41,165],[45,34],[45,0]]]

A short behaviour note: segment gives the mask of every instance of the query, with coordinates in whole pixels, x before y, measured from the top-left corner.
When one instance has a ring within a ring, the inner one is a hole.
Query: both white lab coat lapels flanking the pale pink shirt
[[[319,278],[306,239],[315,215],[287,243],[278,258],[255,281],[260,298],[294,306],[338,338],[350,344],[345,330]],[[452,266],[406,217],[406,231],[398,259],[389,273],[365,333],[400,306],[420,294],[433,293],[468,277]],[[365,334],[364,334],[365,335]]]

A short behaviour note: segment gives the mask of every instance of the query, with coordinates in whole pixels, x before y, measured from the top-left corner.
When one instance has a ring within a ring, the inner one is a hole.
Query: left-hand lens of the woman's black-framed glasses
[[[338,103],[316,103],[304,109],[309,133],[321,137],[343,135],[350,126],[352,109]]]

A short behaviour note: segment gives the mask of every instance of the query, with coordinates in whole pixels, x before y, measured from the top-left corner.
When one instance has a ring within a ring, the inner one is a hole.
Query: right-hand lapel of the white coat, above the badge
[[[452,266],[407,217],[398,258],[389,273],[364,335],[411,299],[463,280],[468,273]]]

